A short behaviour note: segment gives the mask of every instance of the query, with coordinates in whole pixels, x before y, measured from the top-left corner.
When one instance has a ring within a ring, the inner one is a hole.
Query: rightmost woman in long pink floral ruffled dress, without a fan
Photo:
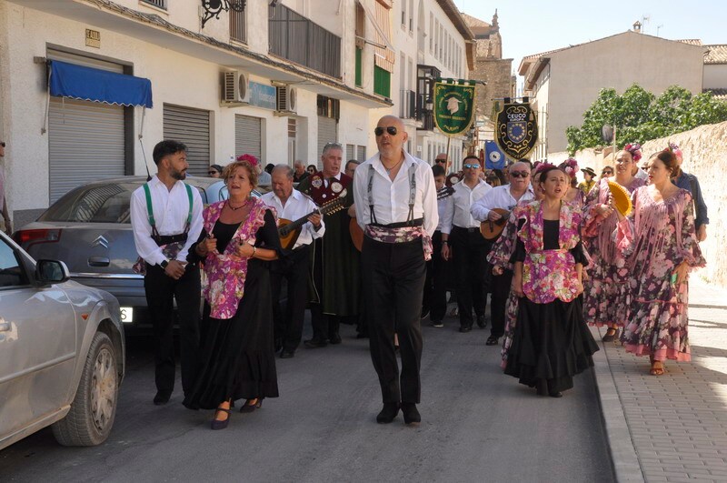
[[[670,180],[676,167],[670,149],[651,157],[649,186],[633,192],[633,214],[620,216],[616,236],[630,292],[622,342],[627,351],[651,358],[655,376],[664,373],[666,359],[692,359],[687,279],[690,270],[705,265],[694,232],[692,196]]]

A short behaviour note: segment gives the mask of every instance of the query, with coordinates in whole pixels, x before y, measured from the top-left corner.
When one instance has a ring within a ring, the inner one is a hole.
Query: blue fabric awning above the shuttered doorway
[[[152,107],[152,81],[84,65],[51,61],[51,96]]]

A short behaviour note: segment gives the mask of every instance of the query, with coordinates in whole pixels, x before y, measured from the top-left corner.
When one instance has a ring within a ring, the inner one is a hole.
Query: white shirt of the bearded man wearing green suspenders
[[[182,251],[177,254],[176,259],[186,263],[189,247],[199,238],[202,233],[202,196],[194,186],[192,187],[192,221],[187,232],[187,241]],[[152,210],[156,231],[159,235],[180,235],[184,233],[189,215],[189,197],[182,181],[177,181],[168,190],[158,177],[154,176],[149,181],[149,191],[152,196]],[[149,225],[148,212],[146,211],[146,196],[144,186],[139,186],[131,195],[131,226],[134,230],[134,243],[139,257],[149,265],[159,265],[166,257],[162,248],[156,245],[152,239],[152,226]]]

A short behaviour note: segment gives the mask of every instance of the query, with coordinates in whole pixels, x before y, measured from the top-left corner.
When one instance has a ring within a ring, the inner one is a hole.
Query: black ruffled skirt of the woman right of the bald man
[[[548,392],[573,387],[573,376],[593,367],[598,345],[583,321],[581,297],[535,304],[520,298],[505,374]]]

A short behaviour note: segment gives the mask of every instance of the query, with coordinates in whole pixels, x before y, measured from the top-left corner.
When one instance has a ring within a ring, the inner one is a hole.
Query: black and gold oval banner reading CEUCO
[[[538,124],[526,99],[517,103],[505,98],[503,109],[495,118],[494,136],[507,156],[513,159],[528,156],[538,141]]]

